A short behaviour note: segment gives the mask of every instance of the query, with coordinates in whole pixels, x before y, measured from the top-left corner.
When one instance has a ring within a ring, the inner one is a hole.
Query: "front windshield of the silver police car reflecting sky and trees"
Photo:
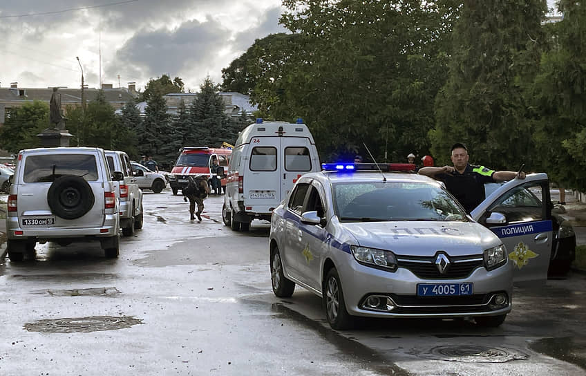
[[[424,182],[337,182],[332,192],[342,222],[469,220],[446,191]]]

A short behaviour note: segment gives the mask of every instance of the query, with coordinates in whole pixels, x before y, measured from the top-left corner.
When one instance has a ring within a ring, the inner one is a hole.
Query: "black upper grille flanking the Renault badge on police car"
[[[482,255],[448,257],[450,264],[444,274],[439,272],[433,257],[397,256],[398,266],[421,279],[463,279],[484,265]]]

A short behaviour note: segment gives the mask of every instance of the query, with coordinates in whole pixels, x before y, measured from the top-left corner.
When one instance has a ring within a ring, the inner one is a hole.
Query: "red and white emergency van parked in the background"
[[[208,185],[211,185],[211,162],[218,159],[220,166],[226,171],[232,151],[224,148],[212,147],[184,147],[180,149],[177,162],[169,175],[169,186],[176,195],[179,189],[187,187],[189,176],[206,175]],[[226,179],[222,179],[222,189],[225,190]]]

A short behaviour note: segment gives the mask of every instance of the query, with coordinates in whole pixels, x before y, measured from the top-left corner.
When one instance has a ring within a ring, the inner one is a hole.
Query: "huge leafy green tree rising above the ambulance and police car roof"
[[[427,153],[457,2],[283,4],[293,34],[257,40],[224,71],[225,88],[250,93],[263,118],[303,118],[324,160],[363,143],[377,160]]]

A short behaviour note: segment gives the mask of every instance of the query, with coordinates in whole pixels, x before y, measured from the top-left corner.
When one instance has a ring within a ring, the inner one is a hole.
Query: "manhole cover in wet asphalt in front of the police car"
[[[518,350],[502,347],[475,345],[437,346],[419,357],[433,360],[462,361],[464,363],[505,363],[511,360],[527,360],[529,355]]]

